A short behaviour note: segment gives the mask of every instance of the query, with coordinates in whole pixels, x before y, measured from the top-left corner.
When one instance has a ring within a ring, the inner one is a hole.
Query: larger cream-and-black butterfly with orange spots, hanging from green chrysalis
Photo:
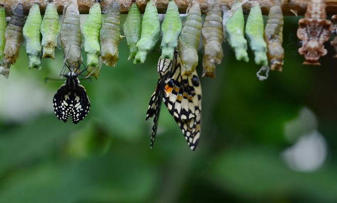
[[[151,149],[157,133],[161,99],[179,125],[191,150],[198,146],[201,132],[202,90],[198,74],[194,70],[190,76],[181,75],[178,50],[173,60],[159,59],[159,79],[151,96],[146,120],[153,119]]]

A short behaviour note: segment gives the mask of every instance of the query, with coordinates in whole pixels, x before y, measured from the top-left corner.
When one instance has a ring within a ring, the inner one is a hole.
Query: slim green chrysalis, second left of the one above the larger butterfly
[[[141,39],[142,32],[142,15],[135,2],[132,3],[129,9],[129,13],[123,24],[123,30],[130,49],[128,59],[130,60],[133,59],[137,53],[136,44],[139,39]]]

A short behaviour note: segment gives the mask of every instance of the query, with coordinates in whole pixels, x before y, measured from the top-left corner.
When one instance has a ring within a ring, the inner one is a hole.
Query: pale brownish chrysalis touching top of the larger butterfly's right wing
[[[201,33],[201,10],[199,2],[193,2],[178,40],[181,74],[191,76],[198,65],[199,38]]]

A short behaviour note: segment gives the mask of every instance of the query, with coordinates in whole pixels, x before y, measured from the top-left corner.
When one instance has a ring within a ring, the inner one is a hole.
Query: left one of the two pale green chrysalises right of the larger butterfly
[[[232,10],[236,9],[233,15],[226,23],[226,38],[233,51],[236,60],[248,62],[247,40],[244,39],[244,18],[240,2],[236,2],[232,6]]]

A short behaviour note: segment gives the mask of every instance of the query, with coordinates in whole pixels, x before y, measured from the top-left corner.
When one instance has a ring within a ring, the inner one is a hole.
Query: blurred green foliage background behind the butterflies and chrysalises
[[[91,109],[73,125],[52,108],[64,80],[44,84],[60,77],[62,50],[54,61],[43,59],[39,71],[28,69],[21,47],[9,79],[0,77],[0,202],[337,202],[336,60],[326,43],[321,67],[301,65],[299,18],[285,17],[284,71],[262,82],[252,53],[249,63],[237,62],[223,43],[216,80],[201,79],[202,133],[194,152],[164,107],[150,150],[153,122],[145,118],[160,51],[133,65],[123,38],[117,66],[103,65],[98,80],[81,80]],[[304,106],[315,112],[329,148],[313,172],[292,171],[280,156],[293,144],[285,123]]]

